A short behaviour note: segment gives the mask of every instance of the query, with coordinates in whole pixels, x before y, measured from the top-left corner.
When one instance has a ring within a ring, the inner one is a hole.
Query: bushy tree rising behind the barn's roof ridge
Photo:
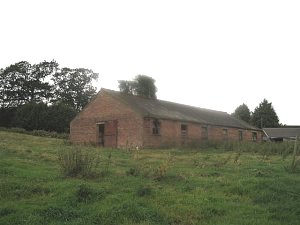
[[[137,75],[133,81],[119,80],[119,89],[126,94],[133,94],[156,99],[155,80],[146,75]]]

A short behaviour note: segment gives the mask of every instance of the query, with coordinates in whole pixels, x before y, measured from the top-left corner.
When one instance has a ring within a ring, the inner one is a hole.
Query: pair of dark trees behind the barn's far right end
[[[253,112],[250,112],[248,106],[243,103],[235,109],[233,116],[258,128],[281,126],[272,103],[266,99]]]

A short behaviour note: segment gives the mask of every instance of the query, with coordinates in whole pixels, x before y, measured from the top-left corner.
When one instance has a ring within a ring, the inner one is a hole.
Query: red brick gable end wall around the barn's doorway
[[[117,147],[142,145],[142,117],[104,91],[71,122],[70,140],[73,143],[97,143],[96,124],[111,120],[117,120]]]

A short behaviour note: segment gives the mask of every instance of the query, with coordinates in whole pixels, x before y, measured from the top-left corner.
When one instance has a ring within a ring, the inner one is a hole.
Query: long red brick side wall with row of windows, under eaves
[[[257,142],[261,142],[261,131],[243,130],[238,128],[203,125],[198,123],[159,120],[160,134],[152,134],[153,118],[144,119],[144,145],[149,147],[180,146],[191,143],[201,143],[204,140],[223,141],[239,140],[239,131],[243,132],[243,141],[252,141],[252,132],[257,133]],[[181,134],[181,124],[188,126],[187,134]],[[202,127],[207,127],[207,139],[202,136]],[[227,130],[227,136],[224,135]]]

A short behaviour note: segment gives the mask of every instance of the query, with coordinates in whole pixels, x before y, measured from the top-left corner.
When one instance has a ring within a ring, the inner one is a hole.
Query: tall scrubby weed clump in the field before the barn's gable
[[[96,175],[95,169],[100,163],[100,157],[88,149],[73,147],[60,150],[58,161],[65,176],[93,177]]]

